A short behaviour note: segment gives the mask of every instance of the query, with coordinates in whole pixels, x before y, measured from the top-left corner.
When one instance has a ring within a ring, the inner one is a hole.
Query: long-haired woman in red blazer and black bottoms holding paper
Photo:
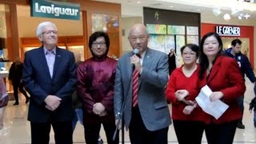
[[[244,78],[238,63],[232,58],[222,56],[222,39],[216,33],[203,36],[199,56],[199,78],[213,91],[210,101],[221,100],[229,108],[218,119],[210,116],[206,126],[209,144],[232,144],[238,119],[241,118],[237,99],[246,90]]]

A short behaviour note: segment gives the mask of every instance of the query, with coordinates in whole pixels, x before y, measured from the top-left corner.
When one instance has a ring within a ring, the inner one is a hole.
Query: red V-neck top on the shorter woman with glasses
[[[172,118],[174,120],[210,122],[208,114],[203,112],[199,106],[194,108],[191,114],[183,114],[182,111],[186,104],[184,102],[176,101],[174,93],[177,90],[188,90],[189,95],[186,97],[186,100],[195,101],[195,98],[198,96],[202,88],[202,81],[198,78],[199,69],[197,68],[197,70],[187,78],[182,72],[182,67],[183,66],[177,68],[170,75],[170,80],[166,88],[166,98],[172,103]]]

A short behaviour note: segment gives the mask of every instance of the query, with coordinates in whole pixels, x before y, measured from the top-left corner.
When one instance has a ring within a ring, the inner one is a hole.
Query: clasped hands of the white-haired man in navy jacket
[[[48,95],[45,99],[46,109],[54,111],[61,104],[62,98],[58,98],[55,95]]]

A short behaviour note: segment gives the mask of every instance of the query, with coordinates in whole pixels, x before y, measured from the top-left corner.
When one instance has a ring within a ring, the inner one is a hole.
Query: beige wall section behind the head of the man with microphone
[[[122,54],[132,50],[128,41],[128,35],[130,27],[135,23],[142,23],[142,17],[122,18],[122,31],[125,31],[125,34],[122,34]]]

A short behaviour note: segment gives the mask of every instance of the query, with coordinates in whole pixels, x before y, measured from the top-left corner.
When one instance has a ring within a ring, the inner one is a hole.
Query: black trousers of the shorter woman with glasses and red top
[[[173,120],[179,144],[201,144],[205,122]]]

